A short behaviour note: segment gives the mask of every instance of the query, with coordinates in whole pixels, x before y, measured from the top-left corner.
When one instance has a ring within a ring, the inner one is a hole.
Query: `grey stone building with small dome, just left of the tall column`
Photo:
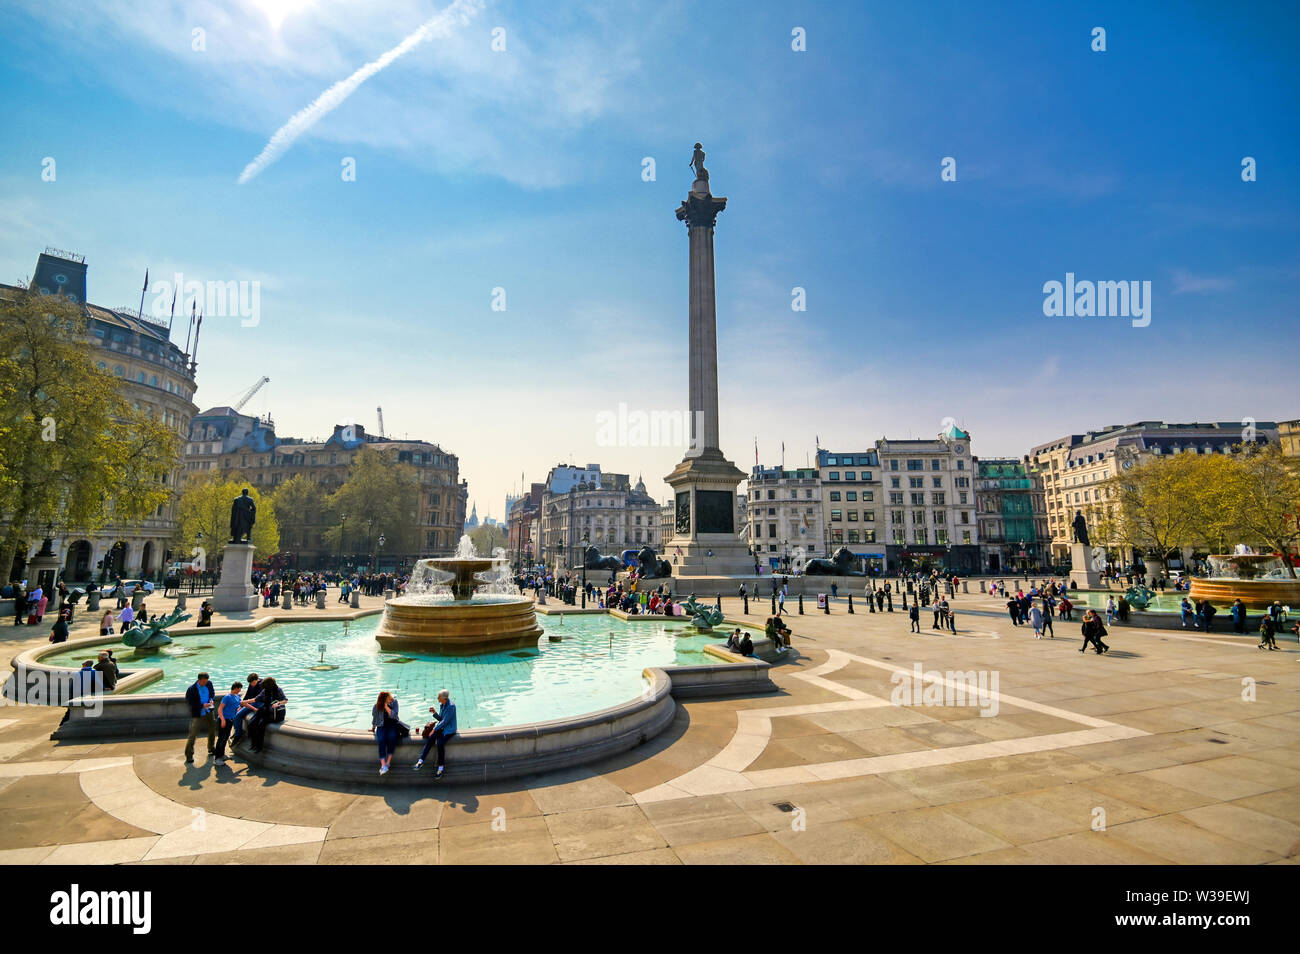
[[[607,556],[662,543],[660,507],[637,480],[559,464],[546,477],[541,507],[541,559],[555,569],[582,565],[588,546]],[[586,541],[586,542],[584,542]]]

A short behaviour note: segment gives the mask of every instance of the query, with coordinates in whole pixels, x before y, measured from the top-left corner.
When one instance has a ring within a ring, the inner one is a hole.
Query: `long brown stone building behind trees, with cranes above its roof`
[[[330,548],[324,534],[333,520],[325,498],[347,480],[352,460],[367,447],[387,454],[415,468],[420,482],[420,546],[412,552],[380,552],[384,568],[410,567],[422,556],[446,556],[455,551],[465,522],[468,485],[460,480],[460,459],[428,441],[395,441],[368,434],[360,424],[335,425],[325,441],[280,438],[270,419],[240,415],[229,407],[209,408],[195,417],[186,446],[187,474],[216,471],[222,477],[247,481],[264,494],[302,474],[321,486],[321,507],[308,512],[302,528],[282,528],[280,548],[290,565],[300,569],[332,569],[337,563],[356,565],[374,551],[374,534],[384,528],[344,526],[343,547]],[[354,552],[355,551],[355,552]]]

